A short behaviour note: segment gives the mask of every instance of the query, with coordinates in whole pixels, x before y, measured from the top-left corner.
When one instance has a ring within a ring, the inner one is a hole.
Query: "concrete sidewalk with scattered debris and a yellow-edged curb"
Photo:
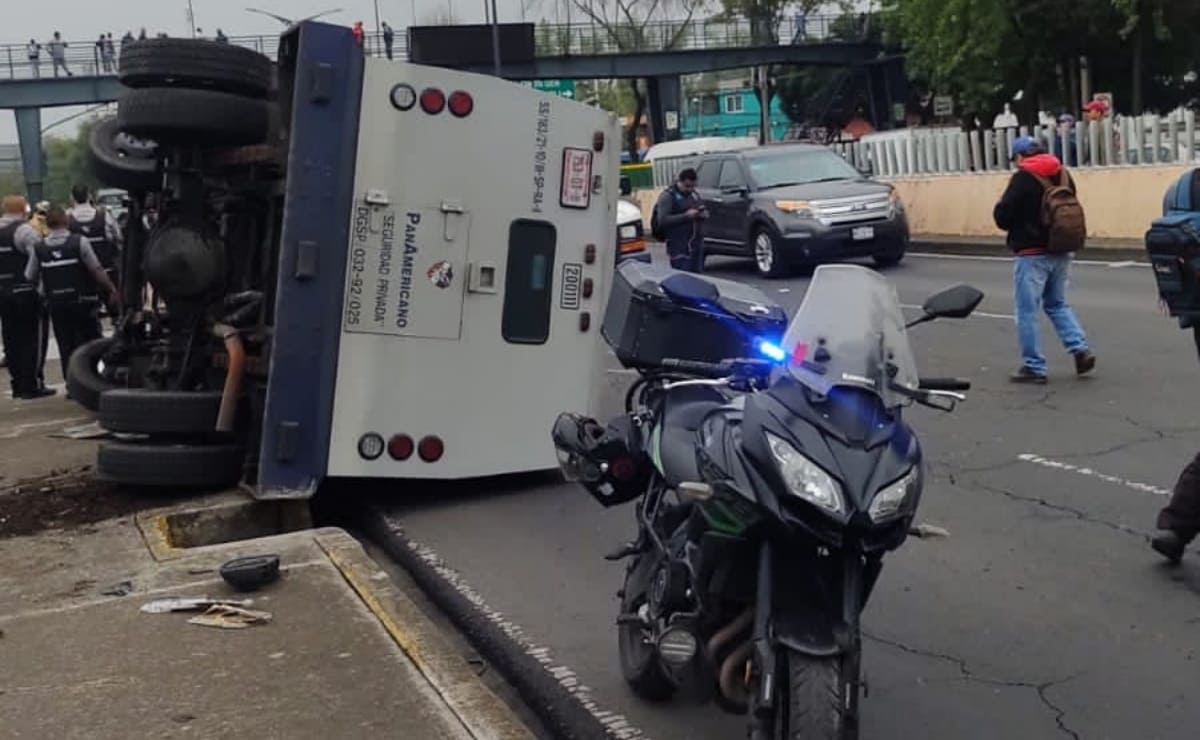
[[[161,536],[166,522],[150,513],[0,540],[6,736],[534,736],[346,533],[178,549]],[[283,574],[248,595],[266,624],[222,630],[140,610],[246,597],[217,568],[266,553]]]

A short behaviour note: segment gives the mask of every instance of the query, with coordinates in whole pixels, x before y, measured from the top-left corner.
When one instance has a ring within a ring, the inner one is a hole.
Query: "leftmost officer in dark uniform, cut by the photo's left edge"
[[[41,306],[37,287],[29,278],[41,237],[25,221],[26,204],[20,195],[4,199],[0,213],[0,332],[7,355],[12,396],[44,398],[54,391],[37,377],[40,361],[38,325]]]

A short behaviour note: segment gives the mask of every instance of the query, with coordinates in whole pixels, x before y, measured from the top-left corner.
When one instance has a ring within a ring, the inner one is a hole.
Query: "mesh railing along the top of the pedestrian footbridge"
[[[539,25],[535,30],[535,52],[539,56],[622,54],[631,52],[664,52],[671,49],[722,49],[766,43],[820,43],[828,41],[845,25],[846,17],[812,16],[785,18],[776,29],[754,32],[743,19],[696,18],[686,22],[662,20],[642,26],[608,26],[599,23]],[[844,29],[842,29],[844,30]],[[774,41],[773,41],[774,40]],[[229,43],[254,49],[275,59],[280,37],[230,36]],[[106,59],[95,40],[67,40],[64,65],[55,68],[49,48],[42,42],[38,58],[30,59],[28,44],[0,44],[0,79],[34,79],[71,74],[95,77],[116,74],[121,56],[121,40],[113,38],[113,58]],[[407,35],[398,29],[392,55],[406,59]],[[364,41],[366,54],[383,56],[386,52],[383,35],[370,32]],[[64,71],[65,68],[65,71]]]

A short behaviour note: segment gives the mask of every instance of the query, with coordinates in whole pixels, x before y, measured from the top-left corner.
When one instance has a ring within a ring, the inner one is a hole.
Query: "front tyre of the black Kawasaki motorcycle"
[[[852,680],[844,657],[812,657],[787,651],[787,702],[779,703],[776,738],[784,740],[857,740],[857,717],[848,716]],[[854,703],[857,704],[857,703]],[[780,732],[781,730],[781,732]]]

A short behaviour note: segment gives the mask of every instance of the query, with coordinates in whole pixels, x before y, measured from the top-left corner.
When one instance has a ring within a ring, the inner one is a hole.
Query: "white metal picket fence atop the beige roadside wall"
[[[1192,164],[1198,154],[1195,113],[1142,115],[998,131],[911,130],[865,142],[833,144],[859,169],[881,178],[1009,170],[1013,142],[1034,136],[1068,167]]]

